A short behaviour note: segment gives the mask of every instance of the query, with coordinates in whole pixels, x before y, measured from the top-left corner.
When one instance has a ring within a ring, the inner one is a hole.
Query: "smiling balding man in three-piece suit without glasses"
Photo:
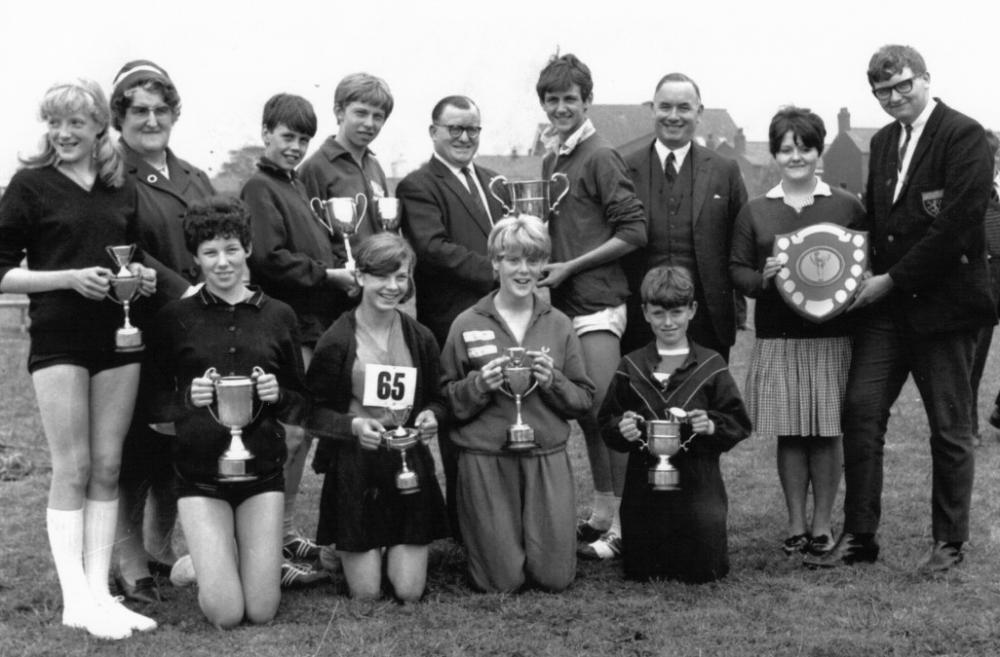
[[[729,246],[747,191],[735,161],[692,141],[702,111],[694,80],[665,75],[653,97],[656,139],[622,153],[649,215],[646,248],[629,263],[632,296],[623,353],[653,339],[642,319],[638,284],[657,265],[683,265],[693,274],[698,312],[688,335],[695,342],[728,360],[736,341]]]

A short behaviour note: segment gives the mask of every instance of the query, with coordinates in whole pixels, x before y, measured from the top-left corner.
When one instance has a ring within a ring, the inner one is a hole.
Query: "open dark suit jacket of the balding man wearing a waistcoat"
[[[653,142],[622,153],[629,167],[629,176],[635,183],[635,191],[644,207],[651,208],[657,201],[653,194],[650,171],[658,163]],[[698,271],[692,272],[701,281],[716,337],[723,344],[732,345],[736,341],[736,310],[733,306],[733,284],[729,278],[729,247],[733,239],[736,215],[747,202],[747,190],[743,184],[740,167],[734,160],[713,151],[691,144],[688,153],[694,171],[692,194],[692,217],[694,220],[694,254]],[[650,213],[652,216],[652,213]],[[631,260],[629,280],[634,303],[641,303],[639,283],[651,268],[661,264],[664,254],[651,250],[654,235],[659,226],[649,222],[649,239],[640,258]],[[638,262],[637,262],[638,261]]]

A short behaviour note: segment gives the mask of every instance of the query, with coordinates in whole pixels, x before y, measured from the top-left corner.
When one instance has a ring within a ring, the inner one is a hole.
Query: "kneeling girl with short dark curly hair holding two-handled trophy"
[[[151,418],[174,422],[178,512],[198,602],[220,628],[266,623],[281,599],[284,429],[306,410],[295,313],[245,283],[246,207],[193,203],[184,235],[205,280],[149,330]]]

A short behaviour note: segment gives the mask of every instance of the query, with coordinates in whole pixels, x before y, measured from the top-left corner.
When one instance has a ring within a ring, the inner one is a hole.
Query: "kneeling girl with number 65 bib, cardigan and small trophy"
[[[448,533],[426,445],[445,414],[440,356],[430,330],[399,310],[413,294],[406,241],[373,235],[355,260],[361,303],[323,334],[306,376],[314,404],[307,428],[320,439],[313,468],[326,474],[317,541],[336,543],[352,597],[380,595],[384,554],[392,593],[415,602],[428,545]],[[387,431],[399,426],[417,436],[405,452],[389,449],[400,443]]]

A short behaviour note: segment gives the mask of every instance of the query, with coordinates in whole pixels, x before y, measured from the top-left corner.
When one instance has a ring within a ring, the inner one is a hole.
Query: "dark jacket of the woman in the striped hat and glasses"
[[[179,299],[201,278],[184,242],[182,218],[192,201],[215,194],[212,183],[201,169],[176,157],[167,149],[170,178],[149,165],[138,153],[121,142],[125,152],[125,174],[135,180],[139,242],[155,262],[156,306]]]

